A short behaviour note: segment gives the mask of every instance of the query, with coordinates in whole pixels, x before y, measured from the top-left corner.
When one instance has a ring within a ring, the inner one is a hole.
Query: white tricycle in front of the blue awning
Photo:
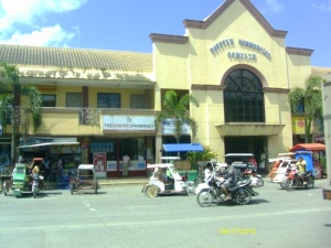
[[[172,193],[194,194],[194,182],[186,181],[186,176],[181,176],[172,163],[148,164],[147,169],[152,170],[149,182],[141,191],[147,196],[157,197],[159,194]]]

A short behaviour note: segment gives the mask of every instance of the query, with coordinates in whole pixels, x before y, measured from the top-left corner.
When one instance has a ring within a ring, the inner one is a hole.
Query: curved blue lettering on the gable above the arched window
[[[271,60],[271,54],[261,45],[242,39],[237,41],[237,44],[241,46],[242,50],[247,48],[249,50],[249,52],[255,51],[259,54],[263,54],[266,58]],[[229,51],[233,48],[236,48],[236,42],[234,41],[234,39],[225,39],[213,45],[210,48],[210,51],[214,55],[227,51],[227,57],[233,60],[257,61],[257,56],[255,53],[244,53],[243,51]]]

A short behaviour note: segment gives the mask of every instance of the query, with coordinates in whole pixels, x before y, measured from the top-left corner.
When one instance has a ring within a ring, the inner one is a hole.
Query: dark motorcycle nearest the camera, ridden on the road
[[[197,204],[202,207],[211,206],[212,203],[223,203],[226,202],[226,195],[222,191],[222,183],[215,173],[212,173],[206,179],[207,187],[202,188],[196,195]],[[236,183],[236,185],[227,188],[229,194],[232,194],[232,201],[239,205],[245,205],[250,202],[252,196],[258,195],[249,185],[250,180],[244,180]]]

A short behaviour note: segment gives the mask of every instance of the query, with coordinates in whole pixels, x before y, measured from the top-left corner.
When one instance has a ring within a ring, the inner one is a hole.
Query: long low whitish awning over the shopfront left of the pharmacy
[[[20,141],[19,148],[36,148],[46,145],[71,145],[79,144],[76,138],[28,138]]]

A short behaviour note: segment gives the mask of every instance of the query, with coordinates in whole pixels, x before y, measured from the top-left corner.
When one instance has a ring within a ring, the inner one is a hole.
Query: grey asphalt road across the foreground
[[[97,195],[45,191],[38,198],[0,195],[0,247],[331,247],[327,180],[286,192],[268,181],[249,205],[200,207],[196,196],[148,198],[141,185]]]

